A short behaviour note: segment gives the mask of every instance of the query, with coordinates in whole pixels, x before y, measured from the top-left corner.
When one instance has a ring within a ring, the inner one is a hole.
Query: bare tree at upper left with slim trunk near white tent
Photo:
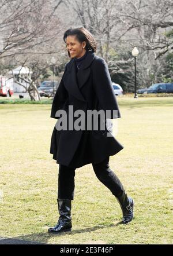
[[[27,64],[31,67],[33,63],[37,63],[37,67],[42,66],[43,70],[45,69],[48,64],[43,56],[58,52],[58,49],[54,47],[54,42],[59,36],[61,23],[55,10],[58,10],[62,2],[62,0],[0,0],[0,59],[2,64],[12,63],[13,67]],[[39,75],[40,73],[41,71],[38,72]],[[28,81],[31,99],[40,100],[35,85],[37,78],[20,77],[20,79]],[[22,86],[22,83],[19,84]]]

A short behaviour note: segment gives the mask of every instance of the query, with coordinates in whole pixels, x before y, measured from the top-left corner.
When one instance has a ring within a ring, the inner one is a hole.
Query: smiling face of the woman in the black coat
[[[67,51],[70,53],[71,58],[80,58],[82,57],[86,50],[84,49],[86,42],[80,43],[75,35],[68,35],[66,38],[66,47]]]

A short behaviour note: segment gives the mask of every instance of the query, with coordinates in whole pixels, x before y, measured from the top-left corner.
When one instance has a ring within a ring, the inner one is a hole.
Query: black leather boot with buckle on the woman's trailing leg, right
[[[122,224],[127,224],[133,219],[133,199],[128,198],[125,191],[123,191],[121,196],[116,196],[116,199],[118,200],[123,213]]]

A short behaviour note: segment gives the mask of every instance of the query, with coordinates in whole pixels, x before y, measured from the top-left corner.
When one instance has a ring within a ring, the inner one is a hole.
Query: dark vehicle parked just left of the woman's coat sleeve
[[[41,83],[38,91],[40,96],[53,97],[58,88],[58,82],[44,81]]]

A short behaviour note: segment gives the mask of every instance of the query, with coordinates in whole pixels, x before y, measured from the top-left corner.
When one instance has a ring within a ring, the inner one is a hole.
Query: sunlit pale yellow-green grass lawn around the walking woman
[[[1,104],[0,236],[56,244],[172,243],[173,97],[118,102],[116,138],[125,148],[110,157],[110,167],[135,201],[134,220],[118,224],[119,204],[88,164],[76,169],[73,231],[49,235],[58,220],[51,105]]]

